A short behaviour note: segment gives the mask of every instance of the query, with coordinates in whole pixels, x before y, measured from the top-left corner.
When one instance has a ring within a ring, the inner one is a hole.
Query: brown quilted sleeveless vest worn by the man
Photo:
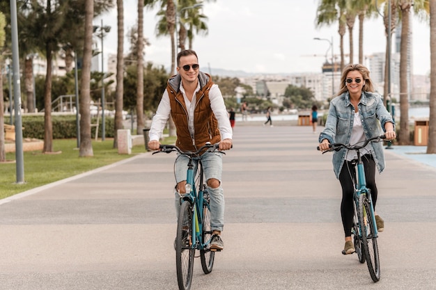
[[[194,110],[194,138],[189,134],[188,113],[180,92],[180,75],[172,76],[169,79],[166,90],[171,105],[171,117],[176,124],[177,140],[176,145],[182,150],[198,150],[206,142],[212,144],[221,140],[218,121],[210,108],[209,90],[212,87],[212,79],[209,74],[199,72],[200,90],[196,95]]]

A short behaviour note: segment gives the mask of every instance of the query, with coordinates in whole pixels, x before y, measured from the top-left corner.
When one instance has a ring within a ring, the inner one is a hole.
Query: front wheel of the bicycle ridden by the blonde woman
[[[359,223],[361,226],[362,244],[365,251],[366,265],[374,282],[380,280],[380,259],[378,256],[377,237],[375,225],[370,216],[371,204],[365,194],[359,197]],[[367,214],[368,213],[368,214]]]

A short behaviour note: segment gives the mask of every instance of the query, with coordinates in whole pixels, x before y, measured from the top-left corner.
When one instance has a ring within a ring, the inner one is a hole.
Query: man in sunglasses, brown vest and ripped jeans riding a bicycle
[[[168,80],[166,90],[151,124],[148,143],[150,150],[159,150],[169,115],[176,124],[176,145],[181,150],[195,151],[205,143],[219,143],[219,150],[232,147],[232,128],[224,99],[209,74],[200,72],[198,57],[191,49],[180,51],[177,72]],[[180,209],[180,195],[186,193],[187,157],[176,159],[176,214]],[[224,192],[221,187],[222,154],[205,152],[201,155],[205,179],[210,193],[210,249],[223,250],[221,231],[224,227]]]

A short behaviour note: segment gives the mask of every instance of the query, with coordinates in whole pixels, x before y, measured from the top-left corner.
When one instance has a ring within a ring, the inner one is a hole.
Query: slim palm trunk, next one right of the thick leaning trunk
[[[123,129],[123,74],[124,74],[124,7],[123,0],[116,0],[118,12],[118,49],[116,52],[115,130],[114,148],[118,147],[118,129]]]

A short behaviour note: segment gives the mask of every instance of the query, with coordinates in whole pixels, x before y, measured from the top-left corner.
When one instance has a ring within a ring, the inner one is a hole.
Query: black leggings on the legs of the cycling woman
[[[366,187],[371,190],[371,198],[375,209],[375,203],[377,202],[375,162],[370,154],[365,154],[361,159],[364,162]],[[353,206],[354,184],[350,174],[353,179],[356,178],[355,166],[352,166],[352,161],[345,161],[339,174],[339,182],[341,182],[342,186],[341,216],[345,236],[351,236],[352,218],[355,214],[355,207]]]

